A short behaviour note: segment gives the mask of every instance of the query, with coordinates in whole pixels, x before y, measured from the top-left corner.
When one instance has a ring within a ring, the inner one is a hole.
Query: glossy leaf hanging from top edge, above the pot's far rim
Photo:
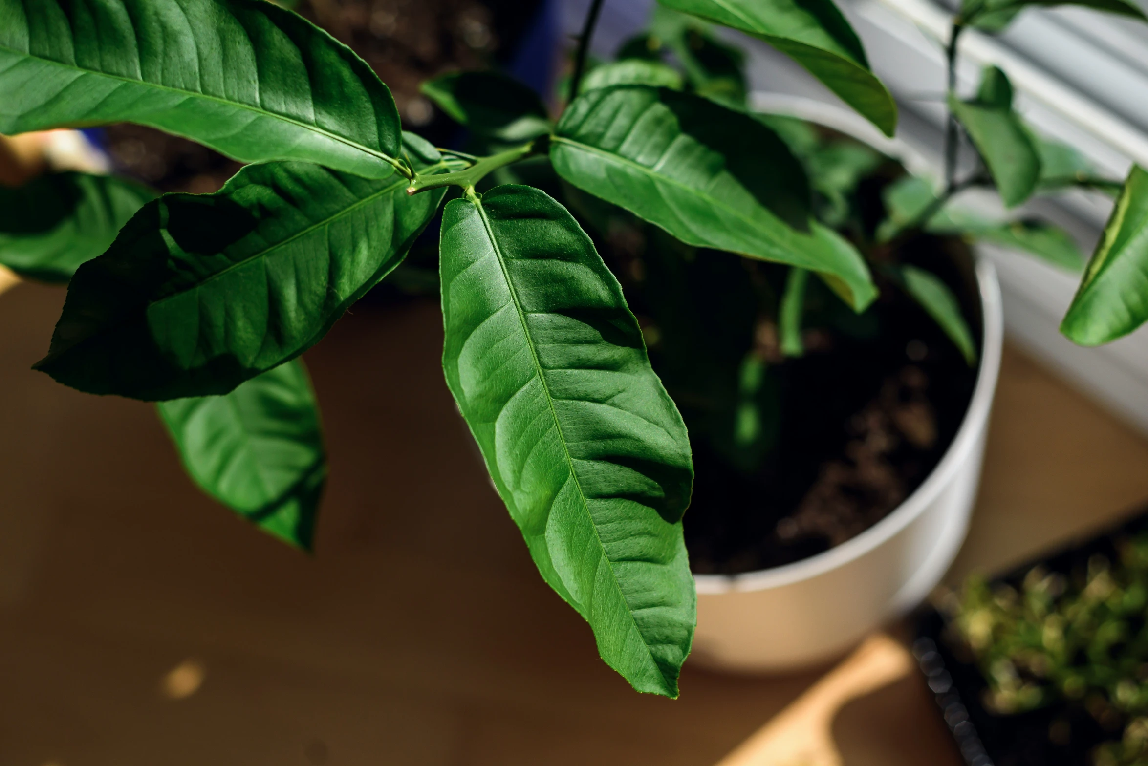
[[[659,0],[765,40],[805,67],[886,135],[897,102],[869,71],[861,40],[830,0]]]

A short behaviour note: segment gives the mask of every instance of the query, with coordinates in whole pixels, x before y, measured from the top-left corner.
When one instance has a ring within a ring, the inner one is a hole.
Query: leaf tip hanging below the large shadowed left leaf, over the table
[[[301,359],[225,396],[162,401],[157,408],[204,492],[269,534],[311,549],[327,461]]]

